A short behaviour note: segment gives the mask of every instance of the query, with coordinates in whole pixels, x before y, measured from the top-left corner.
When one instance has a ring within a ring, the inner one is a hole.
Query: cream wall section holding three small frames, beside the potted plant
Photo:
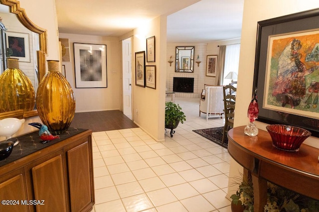
[[[146,51],[146,39],[155,36],[156,89],[135,85],[135,53]],[[134,122],[156,141],[164,141],[165,68],[166,68],[166,16],[134,30],[132,62],[133,118]]]

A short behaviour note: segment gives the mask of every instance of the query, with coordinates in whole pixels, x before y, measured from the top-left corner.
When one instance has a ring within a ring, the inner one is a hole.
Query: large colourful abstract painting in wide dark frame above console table
[[[259,21],[253,90],[258,121],[319,137],[319,9]]]

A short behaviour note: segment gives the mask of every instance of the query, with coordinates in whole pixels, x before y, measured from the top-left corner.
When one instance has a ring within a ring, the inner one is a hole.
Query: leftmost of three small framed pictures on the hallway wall
[[[135,84],[145,87],[145,51],[135,53]]]

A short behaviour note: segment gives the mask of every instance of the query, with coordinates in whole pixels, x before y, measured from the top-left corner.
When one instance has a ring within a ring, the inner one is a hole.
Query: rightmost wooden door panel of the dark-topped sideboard
[[[89,142],[67,151],[71,211],[78,212],[92,202]],[[92,168],[92,167],[91,167]]]

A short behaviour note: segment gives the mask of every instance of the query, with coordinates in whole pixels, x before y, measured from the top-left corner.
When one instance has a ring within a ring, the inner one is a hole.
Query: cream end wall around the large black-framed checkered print
[[[60,33],[59,38],[69,39],[70,62],[65,65],[66,79],[75,95],[75,112],[120,110],[120,42],[118,38]],[[73,43],[104,44],[107,49],[107,88],[76,88]]]

